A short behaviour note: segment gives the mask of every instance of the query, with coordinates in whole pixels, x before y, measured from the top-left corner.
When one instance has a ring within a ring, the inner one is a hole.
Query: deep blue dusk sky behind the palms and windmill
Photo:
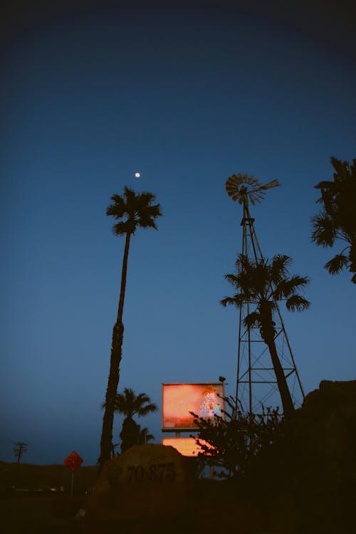
[[[219,305],[241,250],[234,172],[282,184],[253,216],[263,253],[311,279],[310,310],[283,313],[305,391],[355,379],[355,286],[310,243],[313,186],[331,179],[331,155],[356,157],[355,41],[337,38],[341,19],[335,35],[331,19],[312,31],[315,10],[293,19],[256,2],[91,4],[13,14],[3,47],[7,461],[14,441],[31,463],[98,458],[123,251],[105,209],[125,184],[157,194],[164,216],[132,239],[120,390],[160,406],[162,382],[224,375],[234,393],[239,314]],[[160,440],[160,412],[140,423]]]

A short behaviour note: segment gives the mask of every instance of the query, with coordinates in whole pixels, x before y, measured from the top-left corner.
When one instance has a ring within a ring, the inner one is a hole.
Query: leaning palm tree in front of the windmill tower
[[[294,406],[276,350],[273,311],[279,300],[286,300],[286,308],[290,311],[305,310],[310,305],[308,300],[297,293],[298,288],[304,288],[309,280],[297,275],[288,276],[290,263],[291,259],[284,255],[274,256],[269,263],[265,258],[255,262],[248,256],[239,254],[235,263],[237,273],[225,275],[237,293],[221,300],[223,306],[231,304],[236,308],[242,308],[246,302],[256,304],[256,310],[246,315],[244,323],[246,328],[259,328],[261,337],[268,346],[286,416],[294,411]]]

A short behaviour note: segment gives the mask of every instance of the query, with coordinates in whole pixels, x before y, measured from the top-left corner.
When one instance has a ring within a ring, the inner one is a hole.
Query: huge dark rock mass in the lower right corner
[[[269,528],[283,534],[355,532],[356,380],[323,380],[286,423],[256,478]],[[261,476],[260,471],[260,476]],[[259,483],[258,483],[259,482]]]

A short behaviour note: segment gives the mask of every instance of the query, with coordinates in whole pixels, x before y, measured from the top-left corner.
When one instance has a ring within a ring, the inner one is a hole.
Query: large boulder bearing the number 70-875
[[[105,464],[85,508],[98,520],[180,514],[190,480],[187,459],[173,447],[135,445]]]

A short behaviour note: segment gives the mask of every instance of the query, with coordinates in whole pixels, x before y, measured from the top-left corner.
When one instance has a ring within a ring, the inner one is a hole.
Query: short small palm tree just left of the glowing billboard
[[[147,429],[140,429],[140,425],[135,422],[133,416],[145,417],[152,412],[157,412],[157,404],[151,402],[150,397],[145,393],[135,394],[133,389],[125,387],[123,393],[117,393],[115,397],[115,412],[125,415],[120,432],[121,451],[130,449],[132,445],[140,444],[142,439],[150,439]],[[153,436],[152,436],[153,437]]]

